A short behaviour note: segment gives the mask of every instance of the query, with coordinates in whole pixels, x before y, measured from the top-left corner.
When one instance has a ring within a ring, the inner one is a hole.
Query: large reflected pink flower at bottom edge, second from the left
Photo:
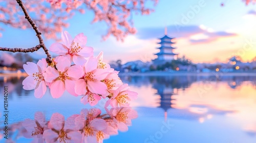
[[[63,115],[54,113],[48,124],[48,130],[43,134],[46,142],[82,142],[82,134],[75,126],[75,118],[79,116],[74,114],[66,121]]]

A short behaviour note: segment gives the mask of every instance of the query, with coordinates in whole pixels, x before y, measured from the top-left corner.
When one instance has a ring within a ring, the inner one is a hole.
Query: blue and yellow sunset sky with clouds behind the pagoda
[[[222,3],[224,6],[221,6]],[[147,5],[153,7],[151,2]],[[65,30],[73,37],[81,32],[87,35],[87,45],[94,47],[95,55],[103,51],[106,62],[155,59],[154,54],[159,52],[156,49],[159,47],[157,38],[164,36],[165,27],[168,36],[176,37],[174,46],[177,49],[174,52],[194,63],[226,62],[235,55],[247,62],[256,56],[256,5],[245,6],[241,0],[160,0],[154,9],[155,12],[150,15],[133,14],[137,33],[127,36],[124,42],[114,37],[103,41],[101,35],[106,33],[105,23],[91,24],[91,11],[86,11],[84,15],[76,14],[69,20],[70,27]],[[0,27],[5,28],[0,46],[30,47],[37,44],[38,40],[31,29]],[[53,42],[46,40],[47,47]],[[46,56],[40,50],[34,57]]]

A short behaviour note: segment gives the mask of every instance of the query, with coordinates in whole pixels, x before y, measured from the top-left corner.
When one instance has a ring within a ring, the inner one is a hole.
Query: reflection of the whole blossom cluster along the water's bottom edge
[[[50,121],[45,120],[41,112],[35,113],[34,120],[26,119],[15,123],[11,130],[32,142],[103,142],[110,135],[119,131],[127,131],[132,120],[138,114],[130,107],[106,109],[102,113],[98,108],[82,109],[80,114],[74,114],[65,120],[60,113],[53,113]],[[15,129],[16,128],[16,129]]]

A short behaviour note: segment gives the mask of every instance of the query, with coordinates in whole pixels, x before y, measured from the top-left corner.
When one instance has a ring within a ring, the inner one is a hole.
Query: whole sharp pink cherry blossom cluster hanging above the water
[[[129,106],[137,93],[130,91],[118,77],[118,71],[103,62],[103,53],[93,56],[93,48],[86,46],[83,33],[74,39],[65,31],[61,43],[53,43],[50,51],[58,54],[53,64],[47,66],[46,59],[37,64],[27,62],[24,69],[29,75],[23,81],[23,88],[34,89],[36,98],[44,96],[47,86],[53,98],[59,98],[67,90],[73,96],[83,96],[81,103],[94,106],[101,98],[109,99],[105,106]]]

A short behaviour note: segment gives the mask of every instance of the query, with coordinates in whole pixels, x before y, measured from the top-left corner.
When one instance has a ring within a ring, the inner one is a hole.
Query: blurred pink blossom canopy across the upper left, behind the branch
[[[151,1],[157,4],[158,0]],[[136,32],[131,20],[134,12],[150,14],[153,11],[145,6],[145,2],[146,0],[30,0],[24,1],[24,5],[29,13],[33,13],[32,18],[46,38],[56,38],[57,33],[69,26],[67,19],[75,13],[83,14],[89,10],[94,12],[92,22],[103,21],[108,26],[103,38],[113,35],[119,40]],[[0,23],[13,28],[30,28],[15,1],[0,0]],[[3,30],[0,28],[0,31]]]

